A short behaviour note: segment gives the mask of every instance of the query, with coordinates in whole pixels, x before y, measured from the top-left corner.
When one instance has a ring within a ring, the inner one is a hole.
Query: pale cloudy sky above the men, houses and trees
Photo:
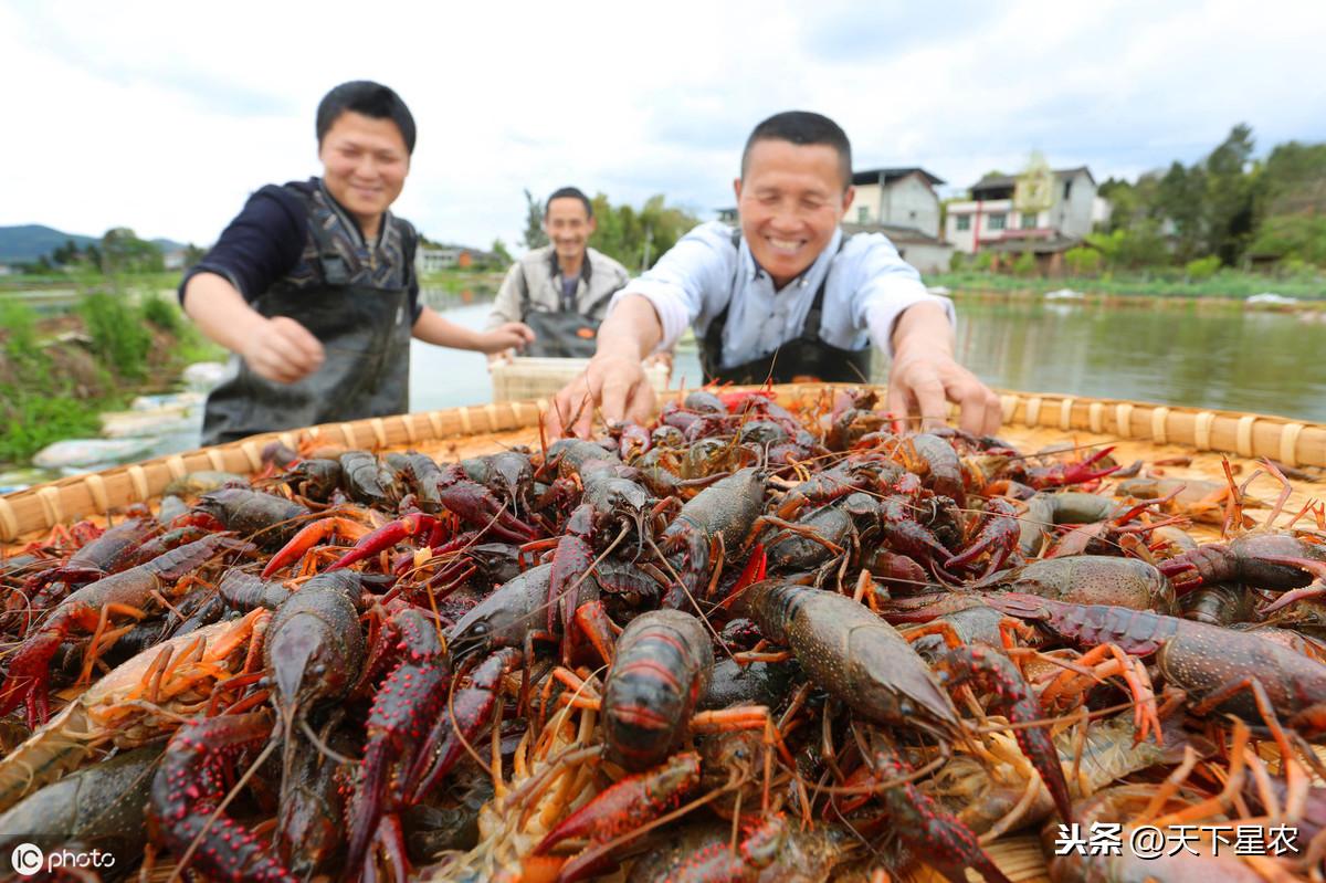
[[[419,126],[395,211],[479,247],[516,245],[524,187],[712,217],[788,109],[835,118],[858,170],[952,190],[1033,148],[1132,178],[1237,122],[1258,152],[1326,141],[1323,45],[1321,0],[0,0],[0,225],[208,244],[261,184],[318,172],[317,102],[359,78]]]

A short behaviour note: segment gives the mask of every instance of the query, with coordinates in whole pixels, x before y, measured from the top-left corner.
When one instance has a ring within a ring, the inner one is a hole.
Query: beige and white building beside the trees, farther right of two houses
[[[996,252],[1016,259],[1030,252],[1044,270],[1057,272],[1062,255],[1109,220],[1086,166],[1050,171],[1033,166],[1021,175],[987,175],[972,198],[948,204],[945,235],[967,255]]]

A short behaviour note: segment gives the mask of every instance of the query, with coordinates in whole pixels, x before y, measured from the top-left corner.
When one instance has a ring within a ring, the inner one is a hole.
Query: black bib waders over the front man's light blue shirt
[[[847,237],[838,243],[842,251]],[[733,233],[732,243],[740,247],[740,231]],[[737,272],[741,272],[741,259],[737,255]],[[829,273],[833,272],[830,264],[823,281],[815,289],[815,298],[806,313],[806,321],[801,325],[801,334],[782,343],[768,355],[733,365],[732,367],[719,367],[723,363],[723,330],[728,325],[728,310],[732,309],[729,301],[723,312],[709,322],[704,330],[704,339],[700,343],[700,367],[708,381],[720,383],[865,383],[870,379],[870,346],[863,350],[843,350],[819,338],[819,324],[823,318],[825,289],[829,286]],[[733,290],[736,280],[733,280]]]

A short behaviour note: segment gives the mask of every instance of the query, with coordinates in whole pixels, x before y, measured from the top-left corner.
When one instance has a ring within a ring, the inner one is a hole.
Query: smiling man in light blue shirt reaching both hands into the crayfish
[[[640,359],[693,326],[705,378],[732,383],[863,382],[871,343],[891,357],[888,407],[994,432],[1000,400],[953,359],[953,306],[926,290],[879,233],[845,237],[851,147],[827,117],[788,111],[756,126],[735,184],[740,225],[701,224],[614,297],[586,371],[557,394],[550,428],[579,414],[643,422],[654,390]]]

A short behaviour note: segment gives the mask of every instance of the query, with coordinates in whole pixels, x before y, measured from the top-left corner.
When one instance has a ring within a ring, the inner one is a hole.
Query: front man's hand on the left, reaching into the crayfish
[[[644,423],[654,414],[654,386],[644,377],[639,357],[601,353],[585,373],[553,398],[548,431],[558,438],[572,432],[587,439],[595,407],[606,423]]]

